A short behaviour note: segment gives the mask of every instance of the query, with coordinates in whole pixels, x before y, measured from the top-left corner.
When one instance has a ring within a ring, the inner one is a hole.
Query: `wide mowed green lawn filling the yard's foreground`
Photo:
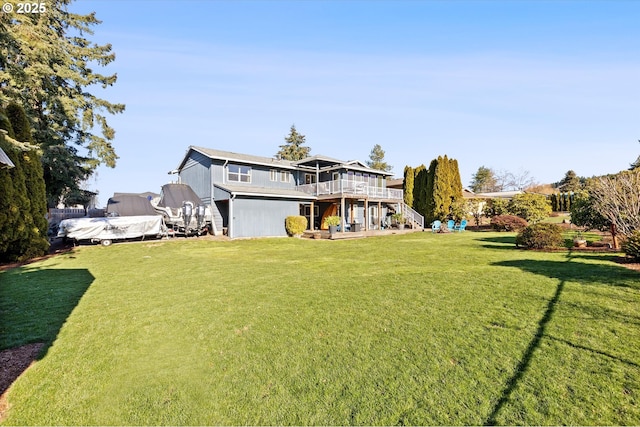
[[[505,233],[79,247],[0,273],[4,424],[640,424],[640,274]]]

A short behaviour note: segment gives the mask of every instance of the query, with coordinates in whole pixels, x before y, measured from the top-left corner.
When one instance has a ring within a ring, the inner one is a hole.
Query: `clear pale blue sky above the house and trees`
[[[81,0],[111,43],[96,95],[111,116],[115,169],[87,187],[159,191],[189,145],[272,156],[292,124],[312,154],[393,172],[458,159],[592,176],[640,154],[640,2]]]

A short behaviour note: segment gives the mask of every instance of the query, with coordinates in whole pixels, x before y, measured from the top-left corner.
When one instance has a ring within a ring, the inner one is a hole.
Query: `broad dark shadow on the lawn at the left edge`
[[[46,354],[93,281],[86,269],[0,272],[0,395]]]

